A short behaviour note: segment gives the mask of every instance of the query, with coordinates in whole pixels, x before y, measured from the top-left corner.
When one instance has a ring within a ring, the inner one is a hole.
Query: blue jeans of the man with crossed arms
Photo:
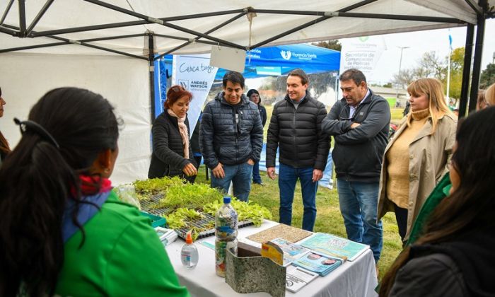
[[[340,212],[344,217],[347,238],[369,245],[377,263],[383,246],[382,222],[376,222],[378,188],[378,182],[347,182],[337,179]]]

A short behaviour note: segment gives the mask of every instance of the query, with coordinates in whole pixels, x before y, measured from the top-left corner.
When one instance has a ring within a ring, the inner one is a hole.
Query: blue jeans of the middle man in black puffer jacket
[[[298,178],[301,181],[303,192],[303,229],[313,231],[316,219],[316,191],[318,190],[318,182],[313,182],[313,167],[293,168],[280,163],[280,223],[291,226],[292,202]]]

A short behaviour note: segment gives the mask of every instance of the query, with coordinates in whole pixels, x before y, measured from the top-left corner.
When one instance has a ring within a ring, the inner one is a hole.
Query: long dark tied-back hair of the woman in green
[[[119,135],[113,107],[101,95],[57,88],[33,106],[29,120],[59,144],[26,129],[0,169],[0,296],[52,296],[64,263],[62,218],[69,200],[72,220],[81,205],[79,174]],[[21,186],[20,186],[21,185]],[[83,233],[84,236],[84,233]],[[81,243],[82,245],[83,243]]]

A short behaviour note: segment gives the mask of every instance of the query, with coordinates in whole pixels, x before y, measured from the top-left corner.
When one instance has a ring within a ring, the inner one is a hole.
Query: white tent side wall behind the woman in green
[[[2,54],[0,87],[7,104],[1,132],[15,146],[21,133],[13,117],[27,119],[30,108],[52,88],[87,88],[107,98],[124,122],[112,182],[146,179],[151,155],[148,77],[148,62],[128,57]]]

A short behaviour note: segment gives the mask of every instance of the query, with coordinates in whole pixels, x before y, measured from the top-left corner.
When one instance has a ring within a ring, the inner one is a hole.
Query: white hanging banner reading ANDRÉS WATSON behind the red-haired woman
[[[209,54],[174,55],[172,65],[172,84],[180,85],[192,93],[187,112],[191,136],[219,69],[210,66]]]

